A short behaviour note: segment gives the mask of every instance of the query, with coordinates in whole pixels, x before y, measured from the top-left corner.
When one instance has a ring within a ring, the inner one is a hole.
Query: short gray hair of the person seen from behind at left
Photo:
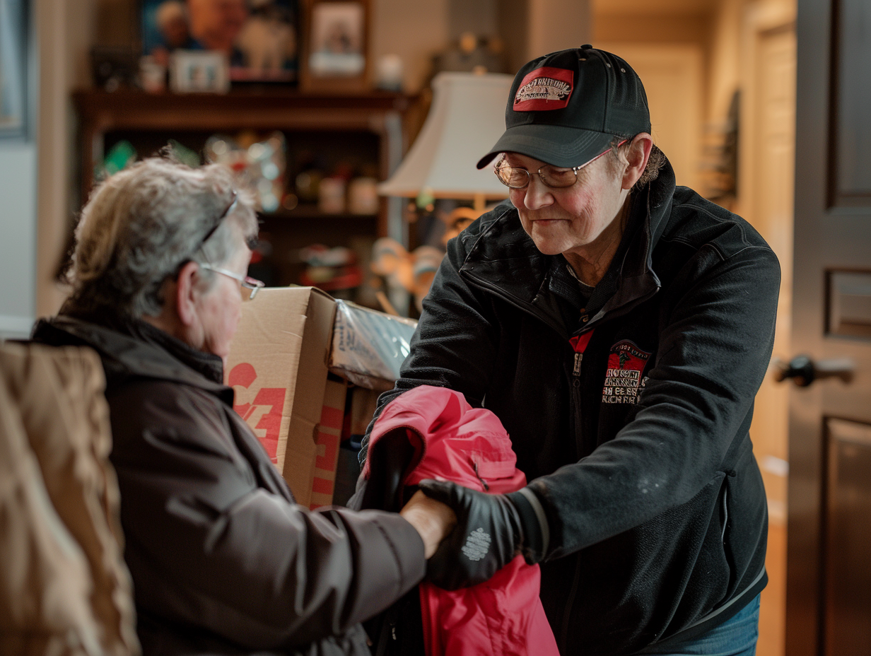
[[[224,166],[194,169],[160,157],[105,179],[91,193],[76,228],[67,274],[72,294],[62,311],[108,308],[132,318],[160,314],[161,287],[186,262],[219,266],[242,243],[253,246],[253,204],[235,194]],[[228,208],[232,211],[219,219]],[[211,286],[213,273],[200,271]]]

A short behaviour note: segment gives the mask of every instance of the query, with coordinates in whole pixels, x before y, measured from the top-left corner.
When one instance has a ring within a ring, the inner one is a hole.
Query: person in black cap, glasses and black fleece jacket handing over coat
[[[748,429],[780,266],[675,185],[629,64],[583,46],[517,73],[505,202],[449,243],[402,378],[496,413],[530,484],[424,482],[459,524],[429,563],[470,585],[522,552],[565,654],[755,651],[766,496]],[[363,456],[365,457],[365,450]],[[471,561],[483,528],[498,548]]]

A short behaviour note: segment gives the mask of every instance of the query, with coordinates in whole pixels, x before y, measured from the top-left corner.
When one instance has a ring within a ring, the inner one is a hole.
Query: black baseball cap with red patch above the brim
[[[638,74],[617,55],[582,45],[537,57],[520,69],[505,108],[505,132],[478,168],[500,152],[582,166],[608,150],[615,136],[650,131]]]

